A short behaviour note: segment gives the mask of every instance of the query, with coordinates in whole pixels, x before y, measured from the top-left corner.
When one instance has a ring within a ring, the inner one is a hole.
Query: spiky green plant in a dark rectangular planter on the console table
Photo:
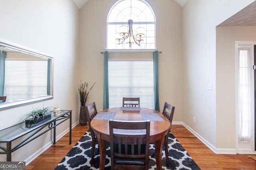
[[[31,127],[36,123],[40,123],[46,119],[51,118],[52,109],[50,107],[43,107],[42,109],[33,109],[32,111],[26,113],[21,121],[25,121],[26,127]]]

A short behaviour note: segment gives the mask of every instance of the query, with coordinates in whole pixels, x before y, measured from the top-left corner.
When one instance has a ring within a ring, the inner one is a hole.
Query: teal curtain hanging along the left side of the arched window
[[[108,51],[104,52],[104,89],[103,89],[103,109],[109,108],[108,97]]]

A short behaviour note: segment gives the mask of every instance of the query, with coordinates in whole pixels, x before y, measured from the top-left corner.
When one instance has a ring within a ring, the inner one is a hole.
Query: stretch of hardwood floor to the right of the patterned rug
[[[202,170],[256,170],[247,154],[215,154],[183,125],[172,125],[171,131]]]

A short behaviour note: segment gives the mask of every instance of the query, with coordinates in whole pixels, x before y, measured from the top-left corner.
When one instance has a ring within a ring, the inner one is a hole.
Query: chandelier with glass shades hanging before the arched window
[[[130,18],[131,18],[131,14],[132,14],[132,0],[130,1]],[[133,44],[134,42],[137,45],[140,45],[140,43],[143,42],[142,38],[145,37],[144,28],[138,27],[136,29],[136,34],[134,36],[133,30],[132,30],[132,23],[133,23],[133,20],[130,19],[128,20],[128,26],[122,25],[119,27],[119,32],[116,33],[116,41],[118,42],[118,44],[129,43],[131,47],[131,44]]]

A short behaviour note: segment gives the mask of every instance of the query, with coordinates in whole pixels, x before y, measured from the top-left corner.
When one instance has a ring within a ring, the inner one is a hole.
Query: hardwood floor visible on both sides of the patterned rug
[[[74,127],[71,145],[68,144],[67,133],[55,145],[30,162],[26,170],[53,170],[88,128],[88,125]],[[202,170],[256,170],[256,161],[248,158],[248,155],[215,154],[183,125],[172,125],[171,131]]]

